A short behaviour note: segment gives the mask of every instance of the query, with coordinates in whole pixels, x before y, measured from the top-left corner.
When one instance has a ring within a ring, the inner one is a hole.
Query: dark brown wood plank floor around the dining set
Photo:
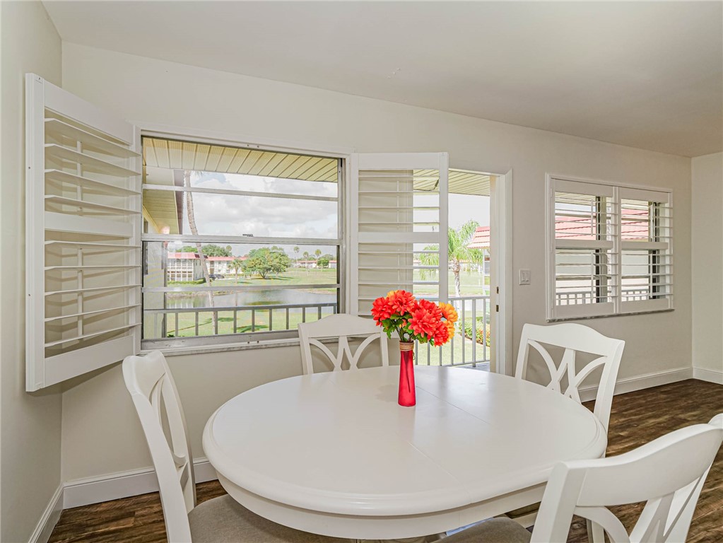
[[[591,407],[587,403],[586,406]],[[718,413],[723,413],[723,386],[692,379],[615,396],[607,456],[624,453],[674,429],[708,422]],[[198,485],[199,501],[224,493],[215,481]],[[642,505],[625,505],[612,510],[629,530]],[[158,493],[64,510],[50,538],[51,543],[165,541],[166,529]],[[587,542],[585,523],[581,518],[573,519],[568,538],[568,543],[578,542]],[[723,542],[723,448],[716,456],[698,500],[688,542]]]

